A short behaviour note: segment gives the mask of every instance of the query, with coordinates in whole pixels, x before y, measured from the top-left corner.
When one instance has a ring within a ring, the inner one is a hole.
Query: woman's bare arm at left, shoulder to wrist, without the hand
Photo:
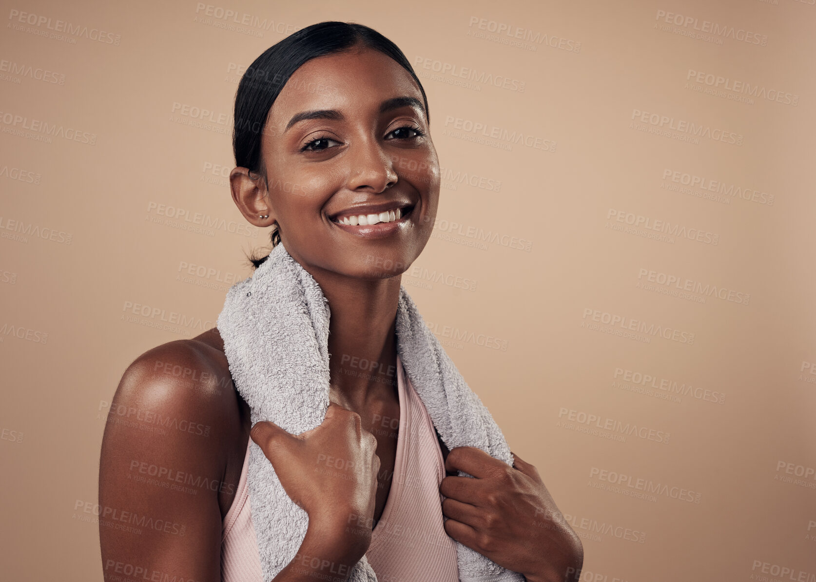
[[[100,457],[105,580],[221,580],[222,520],[237,486],[229,455],[234,466],[248,439],[224,372],[205,346],[185,340],[150,350],[122,376]],[[361,553],[344,546],[342,531],[310,523],[298,556],[274,580],[313,581],[316,572],[346,580]]]

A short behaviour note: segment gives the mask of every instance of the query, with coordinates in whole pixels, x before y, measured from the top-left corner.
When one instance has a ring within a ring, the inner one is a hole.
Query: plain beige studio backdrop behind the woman
[[[816,580],[812,0],[208,2],[2,2],[4,580],[102,580],[97,526],[75,508],[97,499],[105,402],[138,354],[212,327],[228,284],[249,275],[244,253],[267,233],[224,178],[237,69],[320,20],[384,33],[424,83],[441,203],[403,282],[582,535],[582,580]],[[227,8],[238,16],[219,19]],[[55,33],[57,20],[80,32]],[[703,21],[718,31],[689,36]],[[524,46],[509,43],[516,31]],[[716,77],[728,88],[705,92]],[[182,114],[193,108],[211,120]],[[674,129],[655,132],[650,114]],[[680,122],[725,141],[695,141]],[[555,151],[480,143],[459,123]],[[724,190],[671,189],[672,172]],[[159,205],[225,226],[178,228],[192,223],[168,224]],[[691,238],[610,228],[626,213]],[[650,271],[725,299],[639,286]],[[191,323],[162,327],[171,312]],[[685,341],[589,325],[604,313]],[[672,393],[629,373],[691,392],[660,398]],[[670,438],[576,430],[589,415]],[[601,470],[667,489],[608,490]],[[680,489],[694,501],[673,499]]]

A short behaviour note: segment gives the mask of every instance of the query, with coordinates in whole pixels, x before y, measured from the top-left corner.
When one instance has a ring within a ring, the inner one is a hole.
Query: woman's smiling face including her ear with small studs
[[[390,277],[424,249],[439,162],[422,93],[396,61],[357,47],[309,60],[275,100],[262,140],[266,184],[239,174],[233,198],[252,224],[277,222],[305,269]]]

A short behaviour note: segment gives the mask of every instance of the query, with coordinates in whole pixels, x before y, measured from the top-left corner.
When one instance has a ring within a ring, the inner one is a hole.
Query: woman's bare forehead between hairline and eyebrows
[[[292,74],[269,111],[277,129],[292,115],[311,109],[374,112],[395,96],[423,101],[414,78],[397,61],[373,49],[319,56]]]

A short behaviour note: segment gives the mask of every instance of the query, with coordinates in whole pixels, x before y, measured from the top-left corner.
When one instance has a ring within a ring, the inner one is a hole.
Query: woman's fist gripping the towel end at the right
[[[513,467],[475,446],[457,446],[445,461],[445,531],[529,582],[579,580],[583,545],[544,486],[538,469],[515,456]]]

